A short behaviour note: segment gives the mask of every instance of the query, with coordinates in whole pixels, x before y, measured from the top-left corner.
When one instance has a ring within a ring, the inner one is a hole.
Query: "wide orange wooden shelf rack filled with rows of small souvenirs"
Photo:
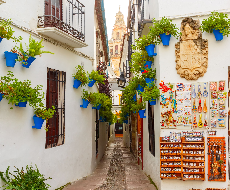
[[[161,179],[205,180],[205,142],[201,131],[160,137]]]

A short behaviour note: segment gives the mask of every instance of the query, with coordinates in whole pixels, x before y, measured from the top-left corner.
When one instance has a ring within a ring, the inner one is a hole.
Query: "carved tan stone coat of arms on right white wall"
[[[180,42],[175,44],[177,73],[187,80],[204,76],[208,68],[208,40],[202,39],[199,20],[185,18],[181,22]]]

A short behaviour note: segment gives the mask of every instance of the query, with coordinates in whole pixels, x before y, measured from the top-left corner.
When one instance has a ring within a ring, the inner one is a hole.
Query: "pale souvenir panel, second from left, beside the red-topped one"
[[[192,102],[191,84],[176,83],[177,129],[191,129]]]

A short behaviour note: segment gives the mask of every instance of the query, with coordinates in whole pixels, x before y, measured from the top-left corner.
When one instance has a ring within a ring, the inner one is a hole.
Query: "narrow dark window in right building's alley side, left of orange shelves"
[[[155,156],[154,108],[148,102],[149,151]]]

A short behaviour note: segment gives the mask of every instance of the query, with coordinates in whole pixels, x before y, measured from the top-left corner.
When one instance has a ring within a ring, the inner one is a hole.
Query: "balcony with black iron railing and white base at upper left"
[[[78,0],[45,0],[37,32],[73,48],[86,47],[84,9]]]

